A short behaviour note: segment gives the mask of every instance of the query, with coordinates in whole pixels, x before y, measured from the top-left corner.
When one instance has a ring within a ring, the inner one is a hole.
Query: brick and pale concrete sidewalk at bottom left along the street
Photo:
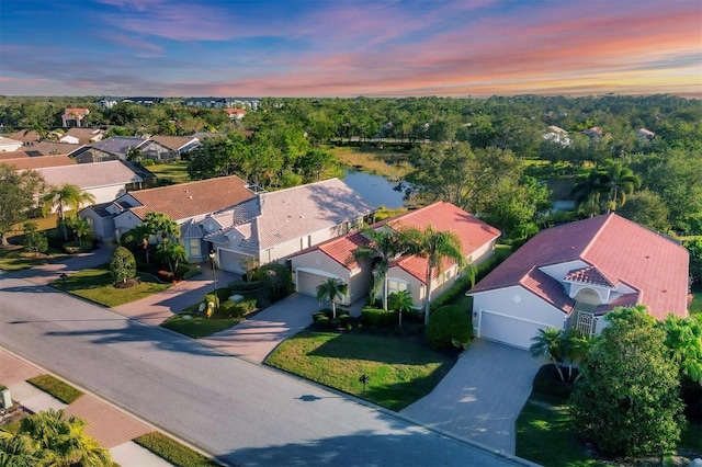
[[[66,405],[26,379],[44,374],[41,368],[0,348],[0,383],[10,389],[12,400],[36,413],[42,410],[64,410],[66,417],[78,417],[87,422],[86,433],[100,442],[112,454],[115,463],[124,467],[171,466],[132,440],[156,431],[127,412],[92,395],[86,394]]]

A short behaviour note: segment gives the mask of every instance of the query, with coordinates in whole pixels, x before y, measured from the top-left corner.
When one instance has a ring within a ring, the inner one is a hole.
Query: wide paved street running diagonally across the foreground
[[[520,463],[2,272],[0,342],[229,464]]]

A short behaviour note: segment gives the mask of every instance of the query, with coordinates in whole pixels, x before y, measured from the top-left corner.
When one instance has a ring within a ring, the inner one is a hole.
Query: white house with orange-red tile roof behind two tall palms
[[[485,224],[472,214],[452,205],[438,202],[429,206],[399,215],[392,219],[374,224],[371,228],[380,229],[414,227],[426,229],[432,226],[439,231],[451,231],[461,240],[463,254],[472,264],[479,264],[495,251],[495,242],[500,231]],[[359,264],[353,259],[353,251],[369,240],[360,232],[351,232],[316,247],[302,251],[290,258],[297,292],[316,295],[316,287],[327,277],[338,277],[348,285],[344,303],[365,298],[372,284],[373,264]],[[427,293],[427,259],[406,255],[397,258],[388,269],[388,294],[408,291],[415,307],[421,307]],[[434,274],[431,282],[431,295],[451,287],[461,276],[461,271],[453,262],[445,261],[442,273]]]

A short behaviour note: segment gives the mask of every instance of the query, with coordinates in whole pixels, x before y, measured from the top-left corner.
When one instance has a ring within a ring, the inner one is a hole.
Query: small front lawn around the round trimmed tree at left
[[[138,274],[140,284],[129,288],[116,288],[107,265],[77,272],[66,278],[66,292],[87,298],[106,307],[135,301],[167,289],[171,284],[158,282],[150,274]],[[57,280],[52,286],[64,289],[64,281]]]

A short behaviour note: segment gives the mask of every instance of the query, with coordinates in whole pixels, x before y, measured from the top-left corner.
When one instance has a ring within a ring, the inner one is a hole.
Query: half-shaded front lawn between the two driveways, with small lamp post
[[[454,364],[411,339],[309,331],[281,343],[265,363],[392,410],[431,392]],[[365,392],[361,375],[370,376]]]

